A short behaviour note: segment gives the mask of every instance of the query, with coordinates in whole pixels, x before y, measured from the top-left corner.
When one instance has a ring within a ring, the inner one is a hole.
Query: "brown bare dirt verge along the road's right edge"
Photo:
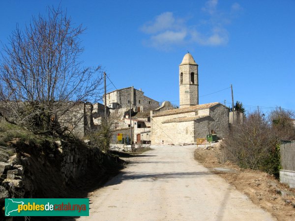
[[[295,189],[280,183],[273,176],[251,169],[242,169],[231,162],[221,163],[219,145],[213,148],[195,150],[195,160],[234,185],[246,194],[254,204],[262,207],[279,221],[295,220]],[[217,171],[214,168],[232,169],[231,172]]]

